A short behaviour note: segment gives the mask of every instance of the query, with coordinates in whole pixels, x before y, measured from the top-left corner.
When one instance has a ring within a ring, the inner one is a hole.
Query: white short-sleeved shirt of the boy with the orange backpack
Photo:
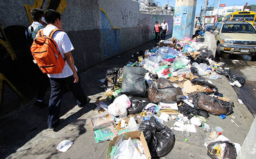
[[[50,32],[53,29],[58,29],[58,28],[54,25],[47,25],[45,28],[42,29],[43,30],[43,35],[49,36]],[[59,50],[61,52],[61,55],[64,59],[65,59],[65,56],[64,56],[65,53],[74,50],[74,47],[73,47],[67,33],[62,32],[62,31],[57,31],[57,32],[54,33],[52,38],[54,39],[54,41],[58,45],[58,48],[59,48]],[[76,71],[77,71],[77,69],[76,69]],[[67,61],[65,61],[65,66],[62,70],[62,73],[47,74],[47,75],[48,75],[48,77],[51,77],[51,78],[65,78],[65,77],[72,76],[73,71],[69,67]]]

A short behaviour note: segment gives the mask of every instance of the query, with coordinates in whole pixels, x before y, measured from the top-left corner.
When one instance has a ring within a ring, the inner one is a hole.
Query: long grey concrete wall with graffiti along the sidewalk
[[[172,16],[141,14],[138,3],[131,0],[3,0],[0,112],[18,105],[18,99],[32,98],[37,91],[40,71],[32,63],[24,34],[32,22],[30,10],[35,7],[62,13],[62,29],[74,45],[72,54],[79,71],[155,38],[156,20],[165,19],[170,28],[167,34],[172,32]]]

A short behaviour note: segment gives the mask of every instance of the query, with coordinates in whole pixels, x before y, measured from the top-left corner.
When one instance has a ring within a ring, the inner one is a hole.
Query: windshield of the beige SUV
[[[224,24],[222,33],[252,33],[255,34],[255,29],[250,24]]]

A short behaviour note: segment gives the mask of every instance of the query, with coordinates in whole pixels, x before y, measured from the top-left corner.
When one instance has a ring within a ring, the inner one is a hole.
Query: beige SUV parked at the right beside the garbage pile
[[[252,55],[256,60],[256,30],[247,22],[217,22],[210,31],[215,35],[217,55]]]

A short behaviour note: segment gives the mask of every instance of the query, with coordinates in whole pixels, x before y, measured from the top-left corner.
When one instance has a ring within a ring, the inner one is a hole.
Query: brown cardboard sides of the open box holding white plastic
[[[128,132],[128,133],[124,133],[127,137],[127,139],[129,139],[129,137],[131,137],[131,139],[134,139],[134,138],[137,138],[141,141],[142,145],[143,145],[143,148],[144,148],[144,153],[146,155],[146,158],[147,159],[151,159],[151,155],[150,155],[150,152],[149,152],[149,147],[147,147],[147,141],[145,140],[145,137],[143,135],[143,132],[141,131],[131,131],[131,132]],[[107,146],[107,159],[110,159],[110,152],[112,151],[112,146],[115,145],[116,141],[118,139],[118,136],[114,137],[113,140],[110,140],[109,141],[109,145]]]

